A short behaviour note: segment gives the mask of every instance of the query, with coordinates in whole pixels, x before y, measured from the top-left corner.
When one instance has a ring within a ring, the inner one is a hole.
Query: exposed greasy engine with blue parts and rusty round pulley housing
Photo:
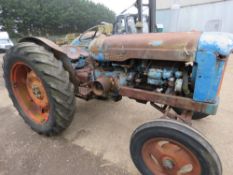
[[[78,96],[85,99],[115,99],[123,86],[180,96],[192,94],[192,67],[181,63],[130,60],[119,64],[82,58],[73,62],[73,67],[80,80]]]

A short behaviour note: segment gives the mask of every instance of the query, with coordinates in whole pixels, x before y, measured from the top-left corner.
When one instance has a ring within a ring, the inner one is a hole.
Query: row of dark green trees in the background
[[[0,0],[0,26],[10,34],[47,35],[83,32],[115,14],[89,0]]]

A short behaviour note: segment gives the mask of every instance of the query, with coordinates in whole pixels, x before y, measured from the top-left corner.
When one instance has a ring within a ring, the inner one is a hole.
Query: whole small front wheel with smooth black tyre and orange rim
[[[131,157],[143,175],[221,175],[220,159],[191,127],[161,119],[133,133]]]

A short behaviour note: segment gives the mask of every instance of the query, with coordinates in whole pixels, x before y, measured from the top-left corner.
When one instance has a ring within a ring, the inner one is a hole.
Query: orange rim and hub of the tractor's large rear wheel
[[[49,118],[49,100],[41,79],[22,62],[11,69],[11,84],[15,98],[23,112],[37,124]]]

